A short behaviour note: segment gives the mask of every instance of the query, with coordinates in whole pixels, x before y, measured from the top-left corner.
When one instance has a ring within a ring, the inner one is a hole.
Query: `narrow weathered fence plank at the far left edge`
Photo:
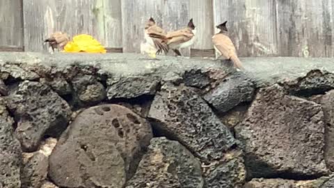
[[[0,46],[23,48],[22,0],[0,1]]]

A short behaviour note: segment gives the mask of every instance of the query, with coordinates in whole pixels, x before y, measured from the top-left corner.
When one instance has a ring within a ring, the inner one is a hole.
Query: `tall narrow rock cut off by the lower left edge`
[[[1,102],[2,103],[2,102]],[[0,105],[0,187],[17,188],[21,186],[20,168],[22,150],[15,139],[13,119],[8,116],[6,107]]]

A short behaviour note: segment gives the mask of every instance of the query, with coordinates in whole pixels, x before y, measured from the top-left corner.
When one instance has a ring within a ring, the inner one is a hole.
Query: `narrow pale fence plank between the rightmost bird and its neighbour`
[[[190,17],[196,23],[197,40],[192,49],[214,49],[214,13],[212,0],[191,0]]]

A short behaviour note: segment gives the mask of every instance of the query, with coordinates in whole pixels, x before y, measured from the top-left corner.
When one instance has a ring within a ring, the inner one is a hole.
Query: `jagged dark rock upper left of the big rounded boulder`
[[[25,151],[37,150],[47,130],[65,130],[72,113],[65,100],[36,81],[23,81],[7,101],[17,121],[15,134]]]

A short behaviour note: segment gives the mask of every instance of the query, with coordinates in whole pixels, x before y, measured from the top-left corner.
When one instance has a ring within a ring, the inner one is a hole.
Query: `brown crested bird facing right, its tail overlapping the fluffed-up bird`
[[[196,40],[196,26],[191,18],[184,29],[164,33],[150,33],[151,38],[161,38],[177,56],[182,56],[180,49],[193,45]]]

